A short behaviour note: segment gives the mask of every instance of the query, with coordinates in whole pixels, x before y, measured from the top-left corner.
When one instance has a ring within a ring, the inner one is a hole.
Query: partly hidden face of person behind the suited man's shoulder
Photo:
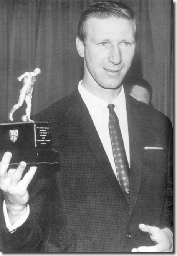
[[[137,101],[144,102],[146,104],[150,104],[150,93],[147,91],[147,89],[139,86],[139,85],[134,85],[131,89],[130,95],[137,99]]]

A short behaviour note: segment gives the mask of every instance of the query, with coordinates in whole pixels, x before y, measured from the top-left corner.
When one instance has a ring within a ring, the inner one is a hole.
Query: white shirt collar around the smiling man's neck
[[[95,96],[94,94],[87,91],[82,85],[82,80],[78,84],[78,91],[81,94],[81,97],[86,104],[88,110],[90,113],[93,113],[96,115],[103,112],[107,106],[108,102],[104,101],[103,99]],[[124,88],[122,86],[121,91],[116,99],[112,102],[116,106],[117,109],[120,111],[126,110],[126,100],[125,100],[125,93]]]

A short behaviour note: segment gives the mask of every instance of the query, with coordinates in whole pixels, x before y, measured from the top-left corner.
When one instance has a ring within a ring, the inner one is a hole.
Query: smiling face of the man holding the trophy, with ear
[[[126,75],[135,51],[135,26],[122,18],[89,18],[86,39],[77,39],[77,49],[84,57],[84,84],[93,92],[95,86],[116,89]],[[98,89],[98,88],[97,88]]]

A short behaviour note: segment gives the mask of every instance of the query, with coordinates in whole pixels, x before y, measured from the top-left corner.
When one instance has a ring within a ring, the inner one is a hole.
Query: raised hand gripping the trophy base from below
[[[30,167],[21,180],[26,163],[22,161],[17,169],[8,170],[11,157],[10,152],[5,152],[0,162],[0,189],[3,190],[8,216],[13,225],[26,212],[29,200],[27,187],[33,179],[37,167]]]

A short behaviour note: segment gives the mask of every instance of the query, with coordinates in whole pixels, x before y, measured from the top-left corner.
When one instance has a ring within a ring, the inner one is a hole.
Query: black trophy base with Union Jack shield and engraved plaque
[[[10,168],[21,161],[28,166],[58,165],[58,152],[51,148],[51,128],[47,122],[0,124],[0,158],[12,153]]]

